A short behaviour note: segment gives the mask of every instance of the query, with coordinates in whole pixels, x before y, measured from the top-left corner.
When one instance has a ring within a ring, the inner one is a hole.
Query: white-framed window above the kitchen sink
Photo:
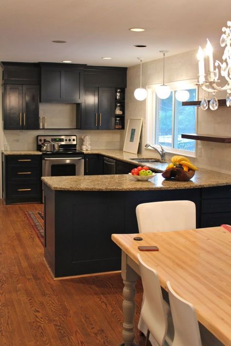
[[[175,89],[175,90],[174,90]],[[195,153],[195,141],[181,138],[182,133],[196,132],[196,107],[182,106],[182,102],[177,101],[175,92],[183,90],[171,86],[171,94],[167,99],[160,99],[154,89],[148,94],[148,121],[147,121],[147,142],[160,143],[169,152],[188,151]],[[194,85],[187,87],[190,97],[188,101],[197,99],[197,89]],[[151,107],[149,99],[152,99]]]

